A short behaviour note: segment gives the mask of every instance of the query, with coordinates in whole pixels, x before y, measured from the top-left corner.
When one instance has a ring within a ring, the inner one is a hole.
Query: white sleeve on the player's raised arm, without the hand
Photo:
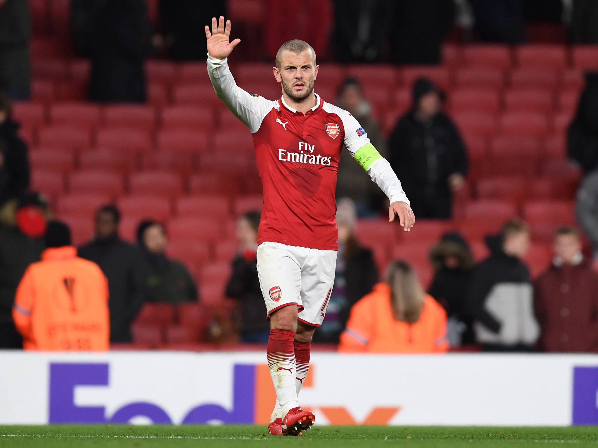
[[[256,133],[264,117],[274,107],[273,102],[240,88],[228,68],[227,58],[216,59],[208,54],[208,75],[218,98],[252,134]]]

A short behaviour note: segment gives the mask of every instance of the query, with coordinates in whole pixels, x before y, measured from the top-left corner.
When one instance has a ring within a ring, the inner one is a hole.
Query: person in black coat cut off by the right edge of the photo
[[[567,152],[584,174],[598,166],[598,73],[585,73],[585,88],[569,125]]]

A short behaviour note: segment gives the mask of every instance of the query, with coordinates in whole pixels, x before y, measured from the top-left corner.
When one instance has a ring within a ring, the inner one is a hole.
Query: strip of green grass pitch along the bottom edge
[[[541,447],[597,446],[598,428],[316,426],[304,437],[271,437],[265,426],[0,426],[0,447]]]

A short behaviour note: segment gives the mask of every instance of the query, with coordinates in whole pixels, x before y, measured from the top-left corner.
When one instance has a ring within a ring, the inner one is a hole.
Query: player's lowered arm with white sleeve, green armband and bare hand
[[[364,128],[350,113],[345,112],[342,117],[344,126],[344,145],[353,158],[370,175],[386,194],[390,201],[388,209],[389,221],[399,217],[405,232],[409,232],[415,222],[415,216],[410,207],[407,195],[401,187],[401,182],[390,167],[389,162],[371,144]]]

